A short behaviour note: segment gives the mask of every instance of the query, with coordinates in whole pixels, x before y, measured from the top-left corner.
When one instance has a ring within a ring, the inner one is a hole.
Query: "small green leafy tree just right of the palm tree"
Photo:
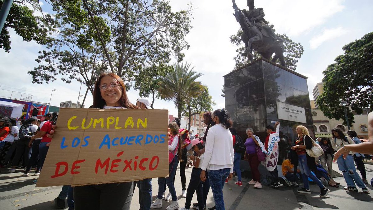
[[[212,111],[213,105],[215,105],[215,102],[212,101],[209,87],[203,85],[202,91],[197,96],[186,101],[184,115],[188,117],[188,130],[190,130],[192,116],[201,115],[206,111]]]

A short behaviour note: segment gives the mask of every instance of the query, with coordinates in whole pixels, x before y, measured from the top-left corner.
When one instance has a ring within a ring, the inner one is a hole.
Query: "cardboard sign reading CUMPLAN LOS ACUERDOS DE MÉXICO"
[[[36,186],[166,177],[168,111],[61,108]]]

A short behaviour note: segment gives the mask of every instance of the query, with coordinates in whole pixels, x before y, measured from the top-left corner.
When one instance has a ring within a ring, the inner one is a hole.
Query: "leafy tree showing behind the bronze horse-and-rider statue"
[[[270,25],[270,27],[273,30],[275,30],[273,28],[273,25]],[[250,63],[250,61],[247,59],[247,56],[246,56],[245,44],[241,40],[242,33],[243,33],[243,31],[240,28],[237,31],[236,34],[231,35],[229,37],[229,39],[231,40],[231,43],[235,44],[238,47],[236,49],[237,54],[233,58],[235,60],[234,69],[240,68],[240,67]],[[283,46],[284,46],[284,58],[285,58],[286,68],[295,71],[297,69],[298,59],[301,58],[301,56],[303,55],[303,46],[301,45],[301,43],[295,43],[286,34],[277,34],[277,35],[284,40],[283,41]],[[260,54],[258,54],[254,50],[254,59],[257,59],[259,57],[260,57]]]

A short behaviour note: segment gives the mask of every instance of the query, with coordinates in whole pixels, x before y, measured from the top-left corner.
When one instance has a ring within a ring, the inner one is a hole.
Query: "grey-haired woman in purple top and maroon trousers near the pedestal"
[[[251,128],[246,129],[246,134],[248,138],[245,142],[246,152],[244,155],[244,160],[249,161],[251,173],[253,175],[253,179],[250,182],[247,182],[250,185],[254,185],[254,188],[263,188],[260,183],[260,172],[258,170],[258,166],[260,161],[258,160],[258,156],[256,154],[256,147],[259,146],[258,142],[254,139],[253,136],[254,131]]]

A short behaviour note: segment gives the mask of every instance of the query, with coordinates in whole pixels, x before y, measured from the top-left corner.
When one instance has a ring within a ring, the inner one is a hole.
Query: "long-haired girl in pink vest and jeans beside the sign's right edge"
[[[158,178],[158,195],[154,203],[151,204],[150,209],[162,208],[162,195],[164,190],[164,182],[168,186],[171,196],[172,203],[166,208],[167,210],[175,210],[179,208],[178,197],[176,195],[175,186],[173,185],[173,178],[175,177],[176,169],[178,167],[179,161],[182,161],[182,143],[184,139],[179,133],[179,126],[176,122],[171,122],[168,124],[169,128],[169,140],[168,140],[168,153],[169,153],[169,177]]]

